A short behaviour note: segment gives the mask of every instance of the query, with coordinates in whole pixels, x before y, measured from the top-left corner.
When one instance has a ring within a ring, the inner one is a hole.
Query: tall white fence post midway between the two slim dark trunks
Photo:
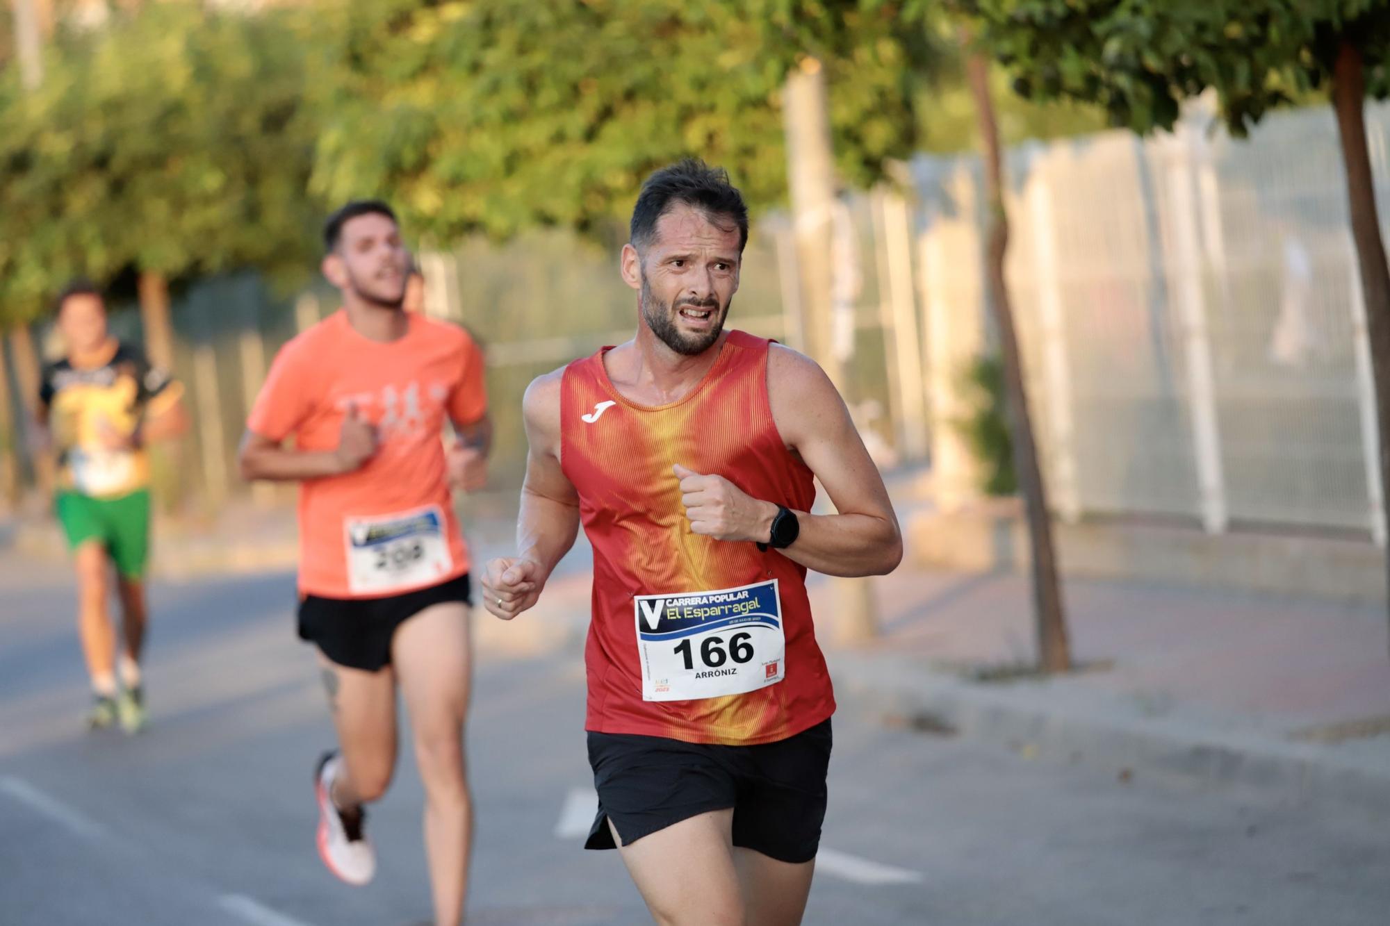
[[[1168,142],[1168,200],[1173,211],[1173,273],[1177,277],[1177,307],[1182,318],[1183,350],[1187,359],[1187,391],[1193,414],[1193,450],[1197,455],[1197,484],[1201,494],[1202,527],[1220,534],[1229,520],[1226,482],[1220,462],[1220,431],[1216,417],[1216,388],[1212,375],[1211,335],[1207,327],[1207,299],[1202,291],[1201,229],[1197,217],[1197,189],[1202,157],[1193,143],[1198,132],[1190,122],[1177,128]],[[1162,142],[1161,142],[1162,143]]]

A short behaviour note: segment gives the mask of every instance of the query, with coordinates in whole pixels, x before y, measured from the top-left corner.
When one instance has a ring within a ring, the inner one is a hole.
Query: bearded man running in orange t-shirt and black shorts
[[[435,923],[449,926],[463,912],[473,830],[468,552],[450,487],[486,478],[482,355],[464,330],[402,309],[410,256],[385,203],[348,203],[324,243],[343,307],[275,357],[242,474],[300,482],[299,635],[320,651],[341,747],[314,776],[320,855],[350,884],[375,873],[363,805],[395,770],[399,683],[425,787]],[[448,448],[446,424],[457,432]]]

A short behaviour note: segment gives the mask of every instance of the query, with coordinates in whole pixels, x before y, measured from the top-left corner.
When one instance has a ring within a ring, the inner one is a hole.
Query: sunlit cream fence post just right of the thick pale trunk
[[[912,292],[912,228],[908,203],[892,190],[876,197],[877,228],[881,231],[881,261],[887,270],[887,295],[878,288],[884,306],[885,345],[897,373],[898,446],[903,457],[920,460],[927,453],[926,393],[922,381],[922,338],[917,334],[917,306]]]

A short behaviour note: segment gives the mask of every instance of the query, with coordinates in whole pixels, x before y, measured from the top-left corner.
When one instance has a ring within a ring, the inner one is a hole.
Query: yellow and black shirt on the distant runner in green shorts
[[[63,359],[46,367],[39,400],[49,409],[58,450],[58,488],[115,498],[147,487],[143,448],[111,449],[110,435],[133,434],[146,414],[160,414],[182,392],[139,348],[120,341],[100,366],[75,367]]]

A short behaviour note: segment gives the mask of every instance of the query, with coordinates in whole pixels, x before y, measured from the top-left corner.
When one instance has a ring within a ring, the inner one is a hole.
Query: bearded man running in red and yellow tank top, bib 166
[[[660,923],[801,922],[834,697],[805,576],[891,571],[902,538],[844,400],[795,350],[724,331],[748,210],[723,170],[653,174],[623,279],[635,339],[538,378],[517,555],[486,608],[531,608],[594,546],[588,848],[617,845]],[[819,478],[838,514],[809,514]]]

